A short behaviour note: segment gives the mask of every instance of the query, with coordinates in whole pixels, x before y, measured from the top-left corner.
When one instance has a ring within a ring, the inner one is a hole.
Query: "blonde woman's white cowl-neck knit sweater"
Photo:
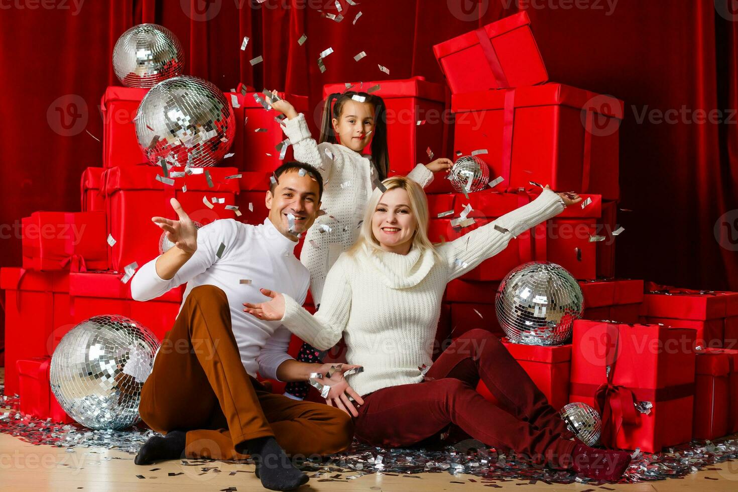
[[[564,202],[551,190],[462,238],[432,251],[408,254],[365,248],[337,260],[323,290],[320,309],[311,315],[285,296],[283,325],[320,350],[342,336],[350,364],[364,367],[348,376],[360,395],[384,387],[419,383],[418,367],[431,354],[446,283],[506,248],[511,238],[558,215]],[[492,292],[489,293],[493,295]],[[345,333],[344,333],[345,332]]]

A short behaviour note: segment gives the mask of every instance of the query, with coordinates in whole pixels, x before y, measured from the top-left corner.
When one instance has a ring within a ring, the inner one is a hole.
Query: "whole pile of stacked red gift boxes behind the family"
[[[423,77],[324,88],[324,95],[351,86],[384,99],[390,174],[453,153],[474,153],[489,165],[494,186],[468,196],[436,177],[427,189],[432,240],[460,238],[528,203],[540,193],[537,184],[577,191],[586,202],[519,235],[504,252],[449,284],[434,358],[472,328],[503,336],[494,313],[497,285],[521,263],[548,260],[580,281],[584,319],[614,320],[576,322],[572,344],[506,342],[556,408],[569,401],[599,405],[607,444],[643,451],[738,431],[738,351],[727,350],[738,336],[738,294],[648,285],[644,295],[643,281],[612,278],[621,101],[548,83],[525,13],[438,44],[434,52],[450,100],[445,86]],[[0,273],[7,292],[5,393],[20,392],[21,409],[32,415],[68,419],[49,392],[48,365],[77,322],[119,313],[159,338],[172,325],[182,288],[142,303],[131,299],[127,283],[136,266],[158,254],[160,232],[150,218],[173,217],[170,197],[202,224],[217,218],[258,224],[266,217],[264,193],[281,162],[275,147],[284,136],[274,111],[264,110],[253,89],[241,85],[226,94],[238,124],[233,155],[208,168],[208,176],[173,178],[174,184],[156,178],[159,168],[148,165],[137,144],[131,121],[145,93],[108,88],[103,167],[83,173],[82,212],[37,212],[24,219],[24,268]],[[317,114],[308,110],[306,97],[279,95],[308,119]],[[452,226],[467,204],[474,224]],[[44,226],[49,234],[41,233]],[[309,297],[306,307],[313,309]],[[294,337],[292,355],[301,343]],[[282,388],[274,383],[274,389]],[[492,398],[483,385],[479,389]],[[613,405],[624,399],[634,403],[632,411]]]

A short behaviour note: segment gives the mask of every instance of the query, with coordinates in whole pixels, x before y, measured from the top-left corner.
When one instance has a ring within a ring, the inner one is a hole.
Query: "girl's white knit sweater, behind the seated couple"
[[[300,261],[310,271],[310,294],[320,304],[323,283],[339,254],[359,237],[359,223],[372,191],[379,182],[367,156],[345,145],[318,144],[310,135],[305,115],[285,120],[284,133],[292,142],[294,159],[311,164],[323,176],[323,204],[326,215],[318,217],[308,229]],[[433,173],[423,164],[410,171],[408,178],[426,187]],[[326,227],[327,226],[327,227]]]

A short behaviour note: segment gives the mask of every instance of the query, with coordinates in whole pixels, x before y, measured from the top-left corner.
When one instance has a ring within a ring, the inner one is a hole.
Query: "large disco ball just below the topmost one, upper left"
[[[207,80],[174,77],[152,87],[134,118],[149,162],[170,166],[218,164],[235,136],[235,118],[223,92]]]

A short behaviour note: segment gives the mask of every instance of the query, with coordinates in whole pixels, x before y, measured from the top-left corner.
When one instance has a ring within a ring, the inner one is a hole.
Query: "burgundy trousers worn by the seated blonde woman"
[[[477,390],[479,379],[497,401]],[[487,446],[514,450],[568,468],[574,441],[523,367],[486,330],[459,336],[418,384],[402,384],[364,395],[355,435],[372,446],[410,446],[458,426]]]

